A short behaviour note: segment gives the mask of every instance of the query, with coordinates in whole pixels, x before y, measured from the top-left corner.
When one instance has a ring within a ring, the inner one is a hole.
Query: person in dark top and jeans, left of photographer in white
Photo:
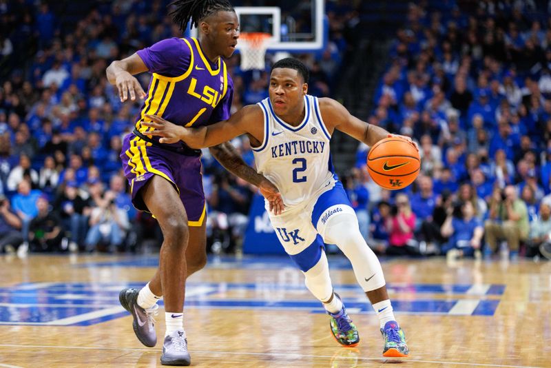
[[[54,208],[61,216],[63,227],[70,231],[69,250],[74,252],[83,247],[91,209],[89,199],[79,194],[76,181],[65,184],[63,193],[54,201]]]

